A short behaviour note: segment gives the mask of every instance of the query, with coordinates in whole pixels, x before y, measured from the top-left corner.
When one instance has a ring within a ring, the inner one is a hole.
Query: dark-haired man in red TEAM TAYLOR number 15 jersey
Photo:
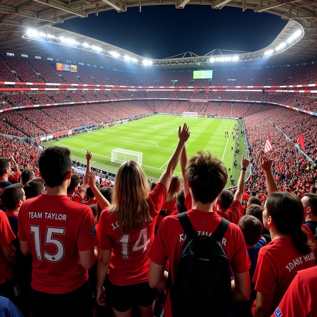
[[[91,316],[87,270],[98,255],[92,210],[67,197],[72,173],[68,148],[48,147],[38,165],[47,191],[26,200],[18,216],[21,251],[33,258],[33,316],[44,311],[45,316]]]

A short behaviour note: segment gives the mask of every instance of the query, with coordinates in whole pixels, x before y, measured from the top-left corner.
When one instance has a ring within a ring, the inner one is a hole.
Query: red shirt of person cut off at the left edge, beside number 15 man
[[[16,236],[11,230],[10,223],[6,214],[0,210],[0,246],[3,248],[11,243]],[[10,263],[5,259],[2,249],[0,248],[0,284],[7,278],[10,280],[13,276],[13,270]]]

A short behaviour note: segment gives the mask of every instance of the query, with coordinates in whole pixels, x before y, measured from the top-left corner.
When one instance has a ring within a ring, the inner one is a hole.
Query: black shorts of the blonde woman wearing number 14
[[[118,312],[126,312],[134,304],[142,307],[149,307],[158,294],[158,290],[150,288],[148,282],[118,286],[106,279],[106,295],[107,301],[112,308]]]

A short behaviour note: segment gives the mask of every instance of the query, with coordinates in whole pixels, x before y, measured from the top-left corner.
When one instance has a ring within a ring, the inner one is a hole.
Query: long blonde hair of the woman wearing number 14
[[[149,185],[139,163],[124,162],[116,174],[110,212],[115,212],[120,230],[134,231],[152,221],[147,202]]]

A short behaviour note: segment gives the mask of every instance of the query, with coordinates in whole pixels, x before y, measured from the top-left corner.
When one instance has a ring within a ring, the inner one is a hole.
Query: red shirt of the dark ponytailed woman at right
[[[255,290],[273,296],[277,307],[297,271],[315,265],[314,253],[303,256],[295,249],[292,238],[278,238],[260,249],[252,281]],[[254,313],[256,300],[252,307]]]

